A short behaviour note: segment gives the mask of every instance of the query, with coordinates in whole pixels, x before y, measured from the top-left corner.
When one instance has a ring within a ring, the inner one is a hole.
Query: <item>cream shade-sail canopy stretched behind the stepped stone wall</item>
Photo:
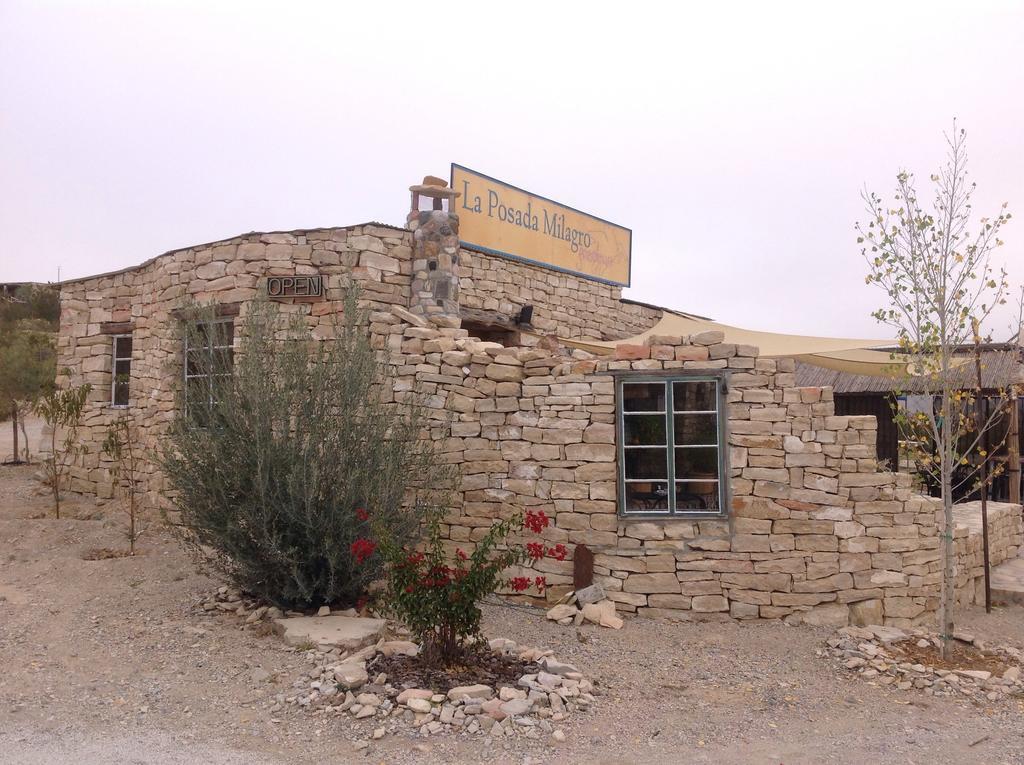
[[[711,331],[724,333],[727,343],[755,345],[760,349],[762,356],[798,358],[807,364],[858,375],[892,376],[895,368],[905,365],[904,360],[893,358],[889,351],[871,350],[871,348],[892,347],[896,345],[893,340],[760,332],[669,310],[665,310],[660,321],[646,332],[624,340],[567,338],[559,340],[568,346],[593,353],[610,354],[614,352],[616,345],[624,343],[643,345],[649,337],[655,335],[688,336]]]

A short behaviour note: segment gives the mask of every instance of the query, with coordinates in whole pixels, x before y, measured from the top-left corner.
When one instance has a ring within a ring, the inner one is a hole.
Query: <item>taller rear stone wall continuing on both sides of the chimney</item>
[[[660,311],[621,303],[621,289],[572,274],[460,249],[461,290],[469,307],[517,313],[534,305],[540,333],[562,337],[624,337],[652,326]],[[179,330],[173,312],[188,303],[230,304],[251,300],[267,275],[325,277],[326,299],[296,303],[317,337],[330,333],[350,280],[361,287],[366,306],[390,309],[411,304],[411,231],[376,224],[291,232],[248,233],[183,248],[141,266],[68,282],[61,288],[58,369],[92,384],[82,435],[90,447],[73,468],[76,491],[109,495],[111,483],[99,445],[106,425],[121,412],[111,403],[112,354],[109,324],[127,324],[133,336],[131,412],[147,442],[155,443],[170,421],[181,376]],[[500,299],[486,295],[501,295]],[[384,349],[386,327],[372,327]],[[400,341],[390,338],[398,350]],[[150,467],[153,488],[159,476]]]

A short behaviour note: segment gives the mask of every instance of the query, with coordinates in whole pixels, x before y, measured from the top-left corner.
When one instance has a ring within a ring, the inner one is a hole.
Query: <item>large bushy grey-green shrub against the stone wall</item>
[[[238,587],[284,607],[356,600],[380,564],[352,559],[355,509],[379,508],[413,542],[417,496],[451,475],[416,396],[380,395],[391,384],[354,289],[343,316],[336,339],[315,340],[301,317],[254,302],[233,374],[231,350],[217,348],[223,328],[203,311],[186,322],[190,379],[161,460],[184,538]]]

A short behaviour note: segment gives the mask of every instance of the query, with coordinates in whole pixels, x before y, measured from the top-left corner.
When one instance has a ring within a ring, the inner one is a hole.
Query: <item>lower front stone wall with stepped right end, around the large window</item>
[[[396,389],[426,386],[455,413],[451,430],[435,433],[462,472],[462,502],[446,519],[453,548],[530,508],[553,519],[547,542],[596,554],[596,579],[621,610],[903,626],[935,611],[940,509],[911,493],[909,476],[879,471],[874,418],[836,416],[828,388],[795,386],[791,359],[761,358],[719,333],[655,337],[594,358],[506,348],[395,317],[391,337],[398,332]],[[729,373],[731,512],[623,517],[615,375],[709,370]],[[1015,509],[1007,533],[993,535],[1000,555],[1020,538]],[[537,569],[549,600],[570,587],[571,558]]]

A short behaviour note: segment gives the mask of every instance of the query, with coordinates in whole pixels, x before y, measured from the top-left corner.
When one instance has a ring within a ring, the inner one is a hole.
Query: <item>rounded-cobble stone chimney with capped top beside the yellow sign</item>
[[[410,186],[412,210],[406,218],[413,231],[413,297],[409,309],[438,327],[459,327],[459,216],[452,204],[460,194],[441,178],[428,175]],[[420,210],[420,199],[433,200]]]

